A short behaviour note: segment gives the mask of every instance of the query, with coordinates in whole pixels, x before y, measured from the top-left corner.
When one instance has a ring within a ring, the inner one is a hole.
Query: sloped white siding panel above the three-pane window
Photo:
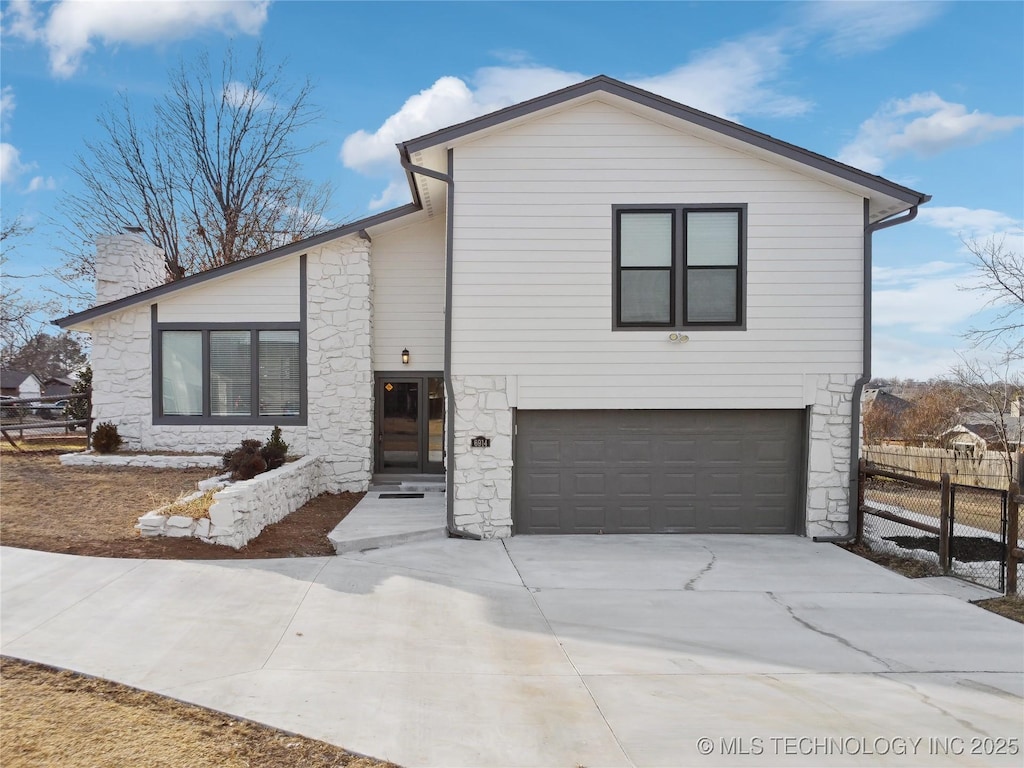
[[[161,323],[298,323],[299,257],[201,283],[158,305]]]

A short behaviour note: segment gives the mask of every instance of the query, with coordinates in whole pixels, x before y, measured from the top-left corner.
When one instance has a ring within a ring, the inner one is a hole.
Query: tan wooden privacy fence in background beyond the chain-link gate
[[[877,467],[905,472],[914,477],[938,482],[948,474],[961,485],[1005,490],[1013,477],[1007,469],[1007,457],[998,451],[968,456],[948,449],[911,445],[864,445],[862,457]]]

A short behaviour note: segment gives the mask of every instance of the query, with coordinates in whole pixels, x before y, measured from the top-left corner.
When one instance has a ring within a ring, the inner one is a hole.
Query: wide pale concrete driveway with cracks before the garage
[[[806,539],[0,556],[3,653],[404,766],[1021,764],[1024,627]]]

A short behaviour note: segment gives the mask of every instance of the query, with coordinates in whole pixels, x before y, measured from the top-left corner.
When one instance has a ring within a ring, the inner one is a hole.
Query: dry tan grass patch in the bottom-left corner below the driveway
[[[0,662],[4,768],[395,768],[155,693]]]

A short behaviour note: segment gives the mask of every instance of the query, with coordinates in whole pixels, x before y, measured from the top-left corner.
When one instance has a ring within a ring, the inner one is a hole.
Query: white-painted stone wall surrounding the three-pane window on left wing
[[[297,257],[296,257],[297,258]],[[296,268],[298,265],[296,264]],[[356,236],[307,254],[307,426],[283,426],[294,454],[324,458],[324,490],[366,490],[373,447],[370,244]],[[253,306],[253,321],[259,307]],[[222,454],[269,426],[155,425],[150,305],[92,324],[93,419],[125,447]]]

